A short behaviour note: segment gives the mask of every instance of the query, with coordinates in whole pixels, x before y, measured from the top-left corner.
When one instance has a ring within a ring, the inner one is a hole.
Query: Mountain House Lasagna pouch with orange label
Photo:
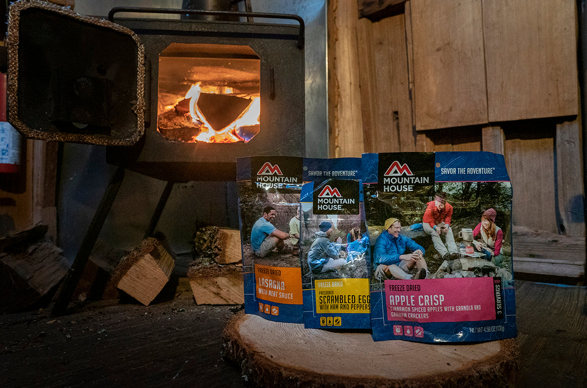
[[[299,226],[302,158],[237,158],[237,185],[245,312],[302,323],[302,276],[292,230]]]

